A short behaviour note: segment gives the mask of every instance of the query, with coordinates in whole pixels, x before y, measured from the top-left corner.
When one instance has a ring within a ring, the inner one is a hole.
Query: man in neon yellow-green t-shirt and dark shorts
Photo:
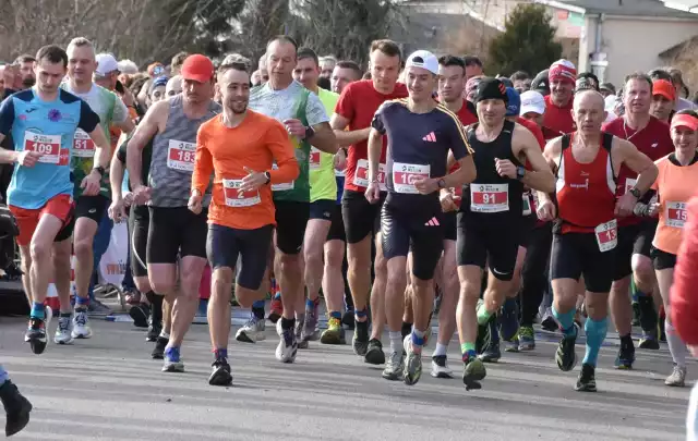
[[[333,66],[334,68],[334,66]],[[298,51],[298,63],[293,69],[293,78],[301,83],[303,87],[317,95],[320,101],[325,107],[325,112],[330,114],[337,106],[339,95],[334,91],[317,87],[320,77],[320,64],[317,54],[310,48],[301,48]],[[344,152],[341,154],[344,155]],[[305,289],[308,301],[305,303],[305,322],[301,334],[299,347],[306,347],[309,341],[317,340],[320,289],[325,273],[323,262],[324,244],[327,241],[329,226],[332,225],[332,215],[337,201],[337,181],[335,180],[335,155],[326,154],[316,147],[311,147],[310,159],[310,219],[305,226],[303,238],[303,259],[305,260]],[[339,267],[341,268],[341,267]],[[333,297],[333,298],[330,298]],[[341,334],[341,303],[340,291],[325,292],[327,302],[327,315],[332,320],[333,332]],[[341,335],[337,336],[341,340]],[[341,343],[341,342],[337,342]]]

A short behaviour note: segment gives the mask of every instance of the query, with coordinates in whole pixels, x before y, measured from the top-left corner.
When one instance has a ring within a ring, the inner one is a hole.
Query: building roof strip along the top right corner
[[[660,0],[562,0],[545,1],[535,0],[553,8],[565,5],[582,9],[586,14],[614,14],[628,16],[661,16],[675,19],[689,19],[698,21],[696,14],[667,8]],[[696,0],[698,3],[698,0]]]

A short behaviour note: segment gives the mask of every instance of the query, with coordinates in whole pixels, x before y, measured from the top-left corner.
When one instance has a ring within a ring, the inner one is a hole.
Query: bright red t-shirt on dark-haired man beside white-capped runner
[[[335,107],[335,113],[349,120],[348,130],[358,131],[366,128],[373,121],[378,107],[387,100],[397,98],[407,98],[407,86],[397,83],[392,94],[384,95],[373,87],[371,79],[362,79],[349,84],[341,91],[339,101]],[[387,139],[383,137],[383,150],[381,151],[381,163],[385,163],[385,149]],[[347,158],[347,170],[345,179],[345,189],[353,192],[363,192],[365,186],[354,184],[354,174],[360,160],[365,161],[369,157],[369,142],[362,140],[352,144],[349,148],[349,157]],[[362,161],[362,163],[363,163]],[[366,163],[368,169],[368,163]]]

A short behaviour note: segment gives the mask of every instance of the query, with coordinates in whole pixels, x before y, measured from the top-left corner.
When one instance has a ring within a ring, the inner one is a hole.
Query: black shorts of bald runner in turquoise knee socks
[[[551,280],[585,277],[585,286],[592,293],[607,293],[613,283],[617,246],[602,253],[594,233],[553,234]]]

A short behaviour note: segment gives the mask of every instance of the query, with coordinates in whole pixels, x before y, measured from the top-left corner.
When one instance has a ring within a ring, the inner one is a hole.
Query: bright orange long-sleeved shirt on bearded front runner
[[[278,169],[273,170],[276,161]],[[272,182],[255,191],[238,191],[249,173],[268,171]],[[248,110],[237,127],[226,127],[222,114],[203,123],[196,135],[192,191],[204,194],[214,173],[208,222],[240,230],[275,225],[272,185],[298,177],[299,168],[288,133],[276,120]]]

